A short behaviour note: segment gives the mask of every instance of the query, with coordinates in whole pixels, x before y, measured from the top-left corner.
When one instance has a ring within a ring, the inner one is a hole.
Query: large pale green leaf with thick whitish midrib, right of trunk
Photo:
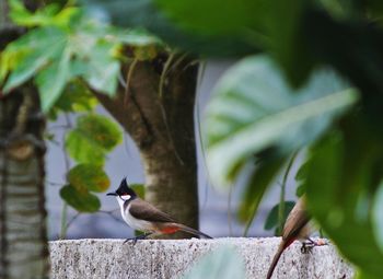
[[[266,149],[288,154],[321,136],[357,91],[328,69],[299,91],[265,56],[248,57],[219,81],[207,108],[208,166],[216,185],[234,178],[239,165]]]

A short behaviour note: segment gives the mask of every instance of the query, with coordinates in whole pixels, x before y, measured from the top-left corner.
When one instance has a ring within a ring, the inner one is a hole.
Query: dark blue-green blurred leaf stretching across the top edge
[[[241,36],[239,33],[230,36],[224,34],[204,35],[181,30],[156,9],[152,0],[83,0],[83,2],[90,9],[95,8],[94,10],[97,12],[107,12],[107,16],[117,25],[130,28],[144,27],[160,36],[166,44],[188,51],[217,57],[240,56],[259,49],[253,42],[249,42],[248,36]],[[193,4],[195,8],[195,3]],[[211,14],[217,14],[216,10]],[[221,24],[224,24],[224,22],[225,20]],[[249,32],[249,34],[252,33]],[[123,37],[121,40],[124,40]]]

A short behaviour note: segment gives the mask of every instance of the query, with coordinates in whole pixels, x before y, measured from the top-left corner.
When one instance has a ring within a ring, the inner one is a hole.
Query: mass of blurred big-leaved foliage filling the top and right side
[[[359,278],[380,278],[382,1],[97,2],[123,25],[131,24],[124,15],[137,3],[138,10],[143,8],[140,23],[165,22],[151,31],[201,56],[246,54],[240,42],[251,54],[267,53],[233,66],[214,90],[206,119],[211,178],[224,187],[247,170],[240,210],[247,220],[286,159],[310,148],[297,175],[297,194],[307,193],[311,213],[360,268]],[[149,14],[154,19],[148,21]],[[196,45],[196,37],[210,47]],[[235,44],[227,51],[217,37]]]

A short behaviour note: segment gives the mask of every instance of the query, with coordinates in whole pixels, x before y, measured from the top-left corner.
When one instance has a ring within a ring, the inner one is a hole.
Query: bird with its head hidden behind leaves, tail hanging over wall
[[[289,247],[295,240],[300,240],[303,242],[302,244],[302,253],[305,253],[307,249],[306,245],[324,245],[322,242],[314,242],[310,239],[310,234],[312,232],[312,226],[310,225],[310,216],[306,212],[305,209],[305,198],[302,196],[295,204],[295,206],[290,211],[285,226],[282,231],[282,240],[278,246],[277,253],[272,258],[271,265],[268,269],[267,279],[270,279],[272,276],[272,272],[278,264],[278,260],[280,256],[282,255],[283,251]],[[307,241],[307,242],[305,242]]]

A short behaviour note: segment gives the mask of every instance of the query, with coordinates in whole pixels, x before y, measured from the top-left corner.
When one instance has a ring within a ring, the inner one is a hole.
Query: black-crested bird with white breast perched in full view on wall
[[[116,191],[106,195],[116,197],[121,217],[130,228],[144,232],[142,235],[127,239],[125,242],[132,240],[136,243],[137,240],[147,239],[149,235],[172,234],[178,231],[212,239],[200,231],[178,223],[169,214],[139,198],[129,187],[127,177],[123,178]]]

